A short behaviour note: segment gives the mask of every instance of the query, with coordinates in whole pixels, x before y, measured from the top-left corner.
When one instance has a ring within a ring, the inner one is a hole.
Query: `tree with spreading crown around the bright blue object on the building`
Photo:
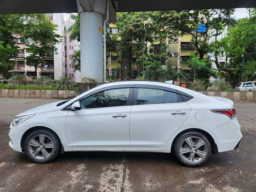
[[[196,55],[203,59],[210,51],[208,40],[212,35],[218,36],[225,26],[234,22],[232,15],[234,9],[202,9],[177,11],[169,18],[169,25],[180,34],[190,34]],[[198,28],[204,26],[205,31]]]

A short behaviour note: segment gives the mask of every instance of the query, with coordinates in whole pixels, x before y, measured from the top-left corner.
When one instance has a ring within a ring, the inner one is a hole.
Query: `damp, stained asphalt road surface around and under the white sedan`
[[[140,152],[66,152],[35,164],[8,146],[8,126],[16,114],[54,101],[0,98],[0,192],[256,192],[256,103],[235,104],[239,148],[212,154],[198,168],[171,154]]]

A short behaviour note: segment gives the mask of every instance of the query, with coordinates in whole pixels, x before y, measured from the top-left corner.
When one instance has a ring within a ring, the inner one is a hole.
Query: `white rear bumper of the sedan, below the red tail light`
[[[234,150],[242,138],[240,124],[236,118],[209,131],[213,137],[218,152]]]

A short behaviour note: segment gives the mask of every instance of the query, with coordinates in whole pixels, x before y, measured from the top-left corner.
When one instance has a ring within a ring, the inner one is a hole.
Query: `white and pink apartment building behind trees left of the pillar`
[[[75,81],[75,72],[71,65],[71,54],[74,50],[75,41],[70,41],[69,34],[65,33],[74,22],[64,21],[64,15],[62,13],[46,14],[52,23],[57,24],[58,28],[56,33],[62,35],[64,38],[62,42],[56,44],[57,52],[53,51],[47,56],[46,63],[42,68],[36,70],[37,77],[47,76],[52,79],[58,80],[62,76],[70,76],[72,81]],[[18,57],[12,60],[17,61],[17,65],[10,72],[20,73],[31,78],[34,76],[35,68],[26,64],[26,56],[30,53],[26,51],[24,43],[20,39],[20,35],[14,34],[14,40],[16,46],[18,46]],[[32,41],[32,39],[31,39]]]

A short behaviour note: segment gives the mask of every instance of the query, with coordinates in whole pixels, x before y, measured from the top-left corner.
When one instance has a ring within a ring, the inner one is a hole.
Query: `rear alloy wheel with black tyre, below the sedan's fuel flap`
[[[174,144],[178,161],[190,167],[204,164],[210,158],[211,150],[208,138],[194,131],[180,135]]]

